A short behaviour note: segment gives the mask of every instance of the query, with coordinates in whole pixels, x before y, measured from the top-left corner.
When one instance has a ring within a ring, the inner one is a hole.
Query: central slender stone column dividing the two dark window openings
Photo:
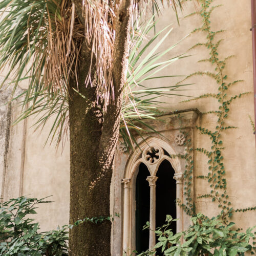
[[[150,184],[150,249],[156,245],[156,181],[158,177],[148,176],[147,181]]]

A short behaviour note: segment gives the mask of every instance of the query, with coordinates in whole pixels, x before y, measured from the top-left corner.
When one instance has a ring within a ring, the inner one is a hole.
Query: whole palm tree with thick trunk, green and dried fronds
[[[179,0],[166,2],[175,11],[177,4],[181,5]],[[142,88],[132,93],[132,87],[153,78],[148,72],[177,59],[157,63],[164,52],[155,54],[155,47],[139,62],[146,48],[139,53],[137,48],[154,27],[151,20],[143,29],[137,27],[139,33],[131,30],[138,26],[138,22],[131,23],[132,15],[139,20],[143,4],[158,8],[154,0],[0,3],[0,69],[10,67],[6,79],[14,77],[13,91],[21,79],[28,79],[28,89],[20,95],[27,109],[20,118],[43,111],[38,123],[44,125],[54,115],[51,134],[58,134],[58,142],[69,124],[70,223],[84,217],[109,216],[119,131],[131,145],[129,127],[143,132],[133,122],[138,119],[135,114],[152,117],[157,111],[152,108],[156,97],[164,90],[179,90]],[[142,92],[154,96],[142,99]],[[110,233],[109,221],[98,225],[87,222],[71,229],[70,254],[110,255]]]

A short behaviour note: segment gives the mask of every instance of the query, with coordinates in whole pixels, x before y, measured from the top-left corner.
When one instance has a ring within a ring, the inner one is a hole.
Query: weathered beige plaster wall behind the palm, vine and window
[[[223,6],[214,10],[211,14],[211,28],[214,30],[223,29],[225,32],[218,35],[223,38],[219,52],[220,57],[235,55],[227,60],[226,73],[228,79],[244,81],[234,85],[230,90],[230,95],[236,95],[244,92],[253,91],[252,80],[252,51],[251,51],[251,25],[250,19],[250,3],[249,1],[232,1],[232,0],[216,0],[215,4],[223,4]],[[180,54],[191,55],[174,62],[165,71],[159,75],[189,75],[197,71],[212,71],[212,66],[207,62],[198,62],[202,58],[209,57],[208,51],[201,47],[195,48],[189,52],[187,50],[197,44],[205,41],[205,34],[199,32],[190,34],[195,28],[201,26],[201,18],[198,15],[185,18],[184,16],[194,12],[193,3],[187,3],[184,7],[183,14],[180,14],[180,26],[177,25],[176,17],[170,9],[164,9],[160,20],[157,24],[157,30],[164,28],[170,23],[173,24],[173,31],[169,34],[167,40],[161,46],[166,49],[177,41],[182,41],[174,48],[173,51],[165,56],[165,59]],[[175,84],[178,79],[165,78],[159,81],[161,86],[170,86]],[[158,86],[157,81],[147,83],[147,86]],[[216,82],[203,76],[195,76],[186,81],[186,83],[194,83],[187,89],[189,91],[180,92],[189,96],[199,96],[205,93],[218,93]],[[202,113],[209,110],[216,110],[218,102],[215,99],[206,98],[194,100],[191,102],[180,103],[187,97],[171,97],[163,98],[163,102],[168,102],[164,106],[168,111],[183,110],[190,108],[198,108]],[[0,106],[1,113],[1,154],[0,154],[0,184],[3,184],[3,166],[5,166],[5,148],[2,146],[6,143],[8,137],[7,106]],[[252,127],[248,115],[253,116],[253,94],[248,94],[237,99],[230,106],[228,125],[237,126],[238,129],[230,130],[223,133],[222,138],[226,149],[223,151],[224,162],[226,165],[226,179],[228,182],[228,194],[233,208],[244,208],[256,205],[255,199],[255,181],[256,181],[256,153],[255,141],[252,133]],[[198,121],[198,125],[202,125],[208,129],[216,126],[217,117],[212,114],[203,114]],[[23,167],[22,188],[20,193],[23,195],[31,195],[33,197],[42,198],[53,195],[54,203],[41,205],[38,209],[38,221],[41,223],[42,229],[55,228],[57,225],[68,223],[69,212],[69,142],[66,143],[61,154],[61,148],[56,151],[54,143],[44,146],[48,136],[50,124],[47,129],[42,132],[34,132],[32,124],[34,120],[28,119],[25,144],[25,159]],[[3,126],[4,124],[4,126]],[[23,129],[23,128],[20,128]],[[3,131],[3,132],[2,132]],[[2,136],[3,134],[3,136]],[[13,135],[20,137],[20,135]],[[2,142],[3,141],[3,142]],[[195,131],[195,146],[210,148],[211,144],[205,135],[200,135]],[[14,143],[14,142],[13,142]],[[17,146],[13,144],[13,149]],[[3,148],[3,149],[2,149]],[[19,153],[17,153],[19,154]],[[21,157],[22,158],[22,157]],[[119,158],[117,158],[119,159]],[[17,167],[18,168],[18,167]],[[199,153],[195,153],[195,173],[194,176],[207,175],[207,158]],[[20,169],[18,170],[20,173]],[[123,172],[123,170],[122,170]],[[12,197],[10,185],[13,176],[5,178],[5,191]],[[17,180],[19,178],[17,177]],[[19,181],[19,180],[18,180]],[[12,183],[13,184],[13,183]],[[121,181],[120,181],[121,184]],[[4,191],[2,189],[2,191]],[[195,180],[196,196],[205,194],[210,190],[206,181]],[[113,191],[113,190],[112,190]],[[113,196],[115,196],[113,194]],[[214,215],[219,209],[217,204],[212,204],[208,199],[197,200],[197,210],[207,212],[208,215]],[[112,202],[112,207],[115,200]],[[118,202],[117,200],[117,203]],[[255,212],[238,213],[234,216],[234,222],[244,228],[255,225]],[[121,232],[121,231],[120,231]]]

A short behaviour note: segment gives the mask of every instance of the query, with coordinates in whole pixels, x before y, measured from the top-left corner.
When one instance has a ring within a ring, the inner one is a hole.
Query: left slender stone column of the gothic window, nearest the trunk
[[[123,183],[123,251],[130,255],[131,252],[131,179],[122,179]]]

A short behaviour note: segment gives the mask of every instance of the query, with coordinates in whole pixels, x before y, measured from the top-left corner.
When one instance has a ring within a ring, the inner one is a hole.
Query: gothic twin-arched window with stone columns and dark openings
[[[174,150],[165,141],[150,138],[134,153],[126,166],[123,185],[123,250],[130,255],[153,248],[155,230],[166,214],[178,218],[174,232],[182,230],[183,212],[176,198],[183,202],[183,174],[180,161],[172,158]],[[150,221],[150,231],[142,231]]]

